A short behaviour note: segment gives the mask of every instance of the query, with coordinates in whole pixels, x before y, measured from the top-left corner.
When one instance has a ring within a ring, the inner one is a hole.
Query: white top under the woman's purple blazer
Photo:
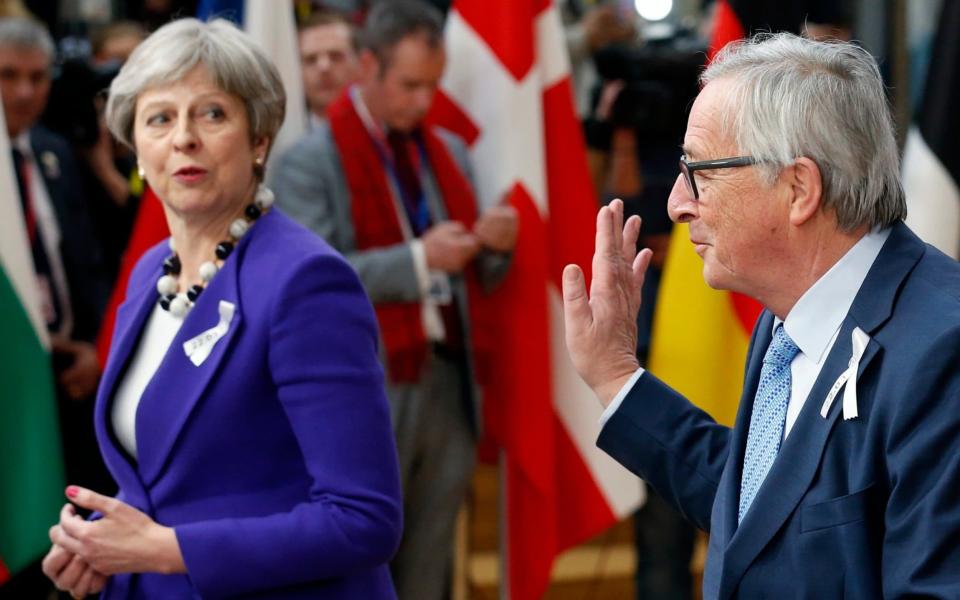
[[[117,386],[110,422],[117,441],[133,458],[137,458],[137,408],[140,406],[140,397],[160,368],[181,325],[183,319],[163,310],[158,303],[150,313],[133,360]]]

